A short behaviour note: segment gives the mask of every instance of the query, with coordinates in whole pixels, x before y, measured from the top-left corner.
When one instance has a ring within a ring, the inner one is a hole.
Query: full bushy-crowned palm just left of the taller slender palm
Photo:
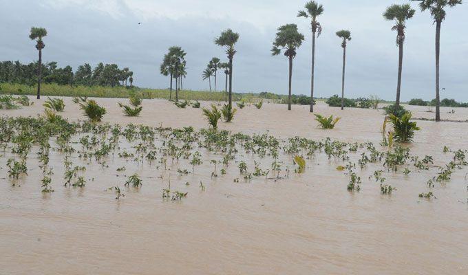
[[[304,41],[304,35],[297,32],[296,24],[282,25],[278,28],[276,39],[273,42],[273,49],[271,50],[273,56],[281,54],[281,50],[284,50],[284,56],[289,59],[289,111],[291,110],[292,59],[296,57],[296,50],[302,45],[302,41]]]

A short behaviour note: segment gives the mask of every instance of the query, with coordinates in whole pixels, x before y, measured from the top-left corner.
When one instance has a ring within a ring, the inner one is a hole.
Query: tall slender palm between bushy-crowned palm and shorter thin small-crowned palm
[[[323,5],[315,1],[309,1],[305,5],[306,11],[300,10],[297,17],[310,17],[310,26],[312,28],[312,78],[310,83],[310,112],[314,112],[314,68],[315,68],[315,34],[317,37],[321,34],[321,25],[317,22],[317,17],[323,13]]]

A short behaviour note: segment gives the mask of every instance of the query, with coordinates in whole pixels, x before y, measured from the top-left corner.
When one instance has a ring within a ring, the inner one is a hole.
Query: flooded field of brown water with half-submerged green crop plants
[[[37,118],[34,101],[0,110],[2,131],[41,133],[14,119]],[[2,142],[0,274],[468,272],[468,123],[418,120],[414,143],[387,148],[381,110],[319,102],[342,118],[322,130],[308,107],[264,104],[212,133],[200,109],[144,100],[127,118],[123,100],[97,101],[107,114],[92,126],[65,98],[61,115],[82,122],[51,128],[50,148]],[[14,179],[8,159],[25,154]]]

